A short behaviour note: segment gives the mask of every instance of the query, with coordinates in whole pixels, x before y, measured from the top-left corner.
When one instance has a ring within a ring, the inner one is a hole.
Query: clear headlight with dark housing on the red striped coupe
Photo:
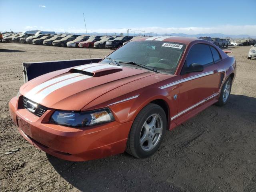
[[[114,117],[108,108],[88,112],[57,110],[50,119],[54,124],[70,127],[93,126],[111,121],[114,121]]]

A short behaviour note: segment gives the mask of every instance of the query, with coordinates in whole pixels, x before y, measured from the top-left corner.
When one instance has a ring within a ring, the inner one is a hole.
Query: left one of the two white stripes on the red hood
[[[25,94],[25,97],[27,98],[32,98],[37,92],[39,92],[40,90],[63,80],[66,80],[68,78],[73,78],[76,76],[80,76],[81,74],[79,73],[72,73],[72,74],[68,74],[68,75],[63,75],[51,80],[48,80],[46,82],[43,82],[42,84],[39,84],[38,86],[35,86],[34,88],[32,88],[32,90],[30,90],[28,93]],[[31,99],[32,100],[32,99]]]

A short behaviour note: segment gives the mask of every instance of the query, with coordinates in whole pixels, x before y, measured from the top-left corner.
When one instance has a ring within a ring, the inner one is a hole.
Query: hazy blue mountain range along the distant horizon
[[[74,34],[74,33],[68,33],[68,34]],[[76,33],[76,34],[84,34],[84,33]],[[108,36],[113,36],[113,35],[120,35],[120,33],[88,33],[90,35],[108,35]],[[126,35],[126,34],[123,34]],[[130,33],[131,36],[134,36],[133,33]],[[143,34],[135,34],[135,35],[143,35]],[[154,36],[155,34],[153,33],[145,33],[145,36]],[[246,34],[242,35],[227,35],[227,34],[222,34],[222,33],[204,33],[204,34],[195,34],[195,35],[188,35],[184,33],[168,33],[168,34],[157,34],[157,36],[182,36],[182,37],[218,37],[218,38],[229,38],[229,39],[241,39],[241,38],[256,38],[256,36],[249,36]]]

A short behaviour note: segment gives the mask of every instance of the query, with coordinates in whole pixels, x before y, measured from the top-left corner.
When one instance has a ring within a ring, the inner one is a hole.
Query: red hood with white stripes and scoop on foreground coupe
[[[98,97],[153,72],[108,64],[87,64],[30,80],[20,93],[48,108],[81,110]]]

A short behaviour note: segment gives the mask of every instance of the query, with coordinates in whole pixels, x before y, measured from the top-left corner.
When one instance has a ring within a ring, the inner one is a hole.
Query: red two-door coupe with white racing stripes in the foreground
[[[53,156],[84,161],[154,154],[172,130],[228,102],[236,61],[198,38],[140,38],[101,62],[34,78],[9,103],[22,136]]]

